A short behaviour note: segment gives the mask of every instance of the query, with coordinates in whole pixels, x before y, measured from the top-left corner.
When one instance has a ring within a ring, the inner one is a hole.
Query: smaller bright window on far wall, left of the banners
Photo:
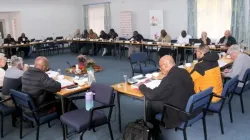
[[[88,8],[89,29],[93,29],[95,33],[100,34],[104,30],[104,5],[90,5]]]

